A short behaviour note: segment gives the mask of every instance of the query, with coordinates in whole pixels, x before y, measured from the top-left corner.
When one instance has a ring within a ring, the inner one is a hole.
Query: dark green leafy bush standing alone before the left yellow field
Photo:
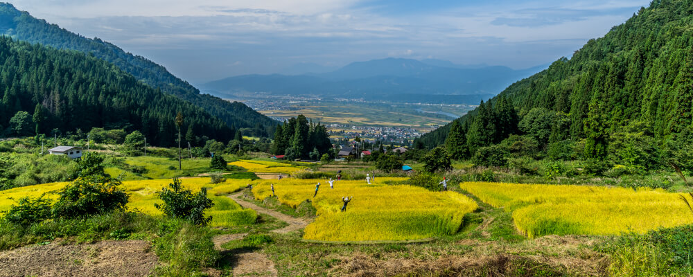
[[[204,217],[204,210],[214,206],[212,200],[207,198],[207,188],[202,188],[193,195],[191,190],[183,188],[178,178],[174,178],[168,188],[162,188],[157,194],[164,204],[154,206],[168,217],[188,220],[191,224],[200,226],[207,225],[212,220],[212,217]]]

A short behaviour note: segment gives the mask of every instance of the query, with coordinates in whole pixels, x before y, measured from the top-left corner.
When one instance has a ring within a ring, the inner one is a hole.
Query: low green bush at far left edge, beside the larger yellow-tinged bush
[[[28,227],[51,218],[51,200],[44,195],[37,198],[22,197],[17,205],[10,206],[10,210],[3,213],[3,220]]]

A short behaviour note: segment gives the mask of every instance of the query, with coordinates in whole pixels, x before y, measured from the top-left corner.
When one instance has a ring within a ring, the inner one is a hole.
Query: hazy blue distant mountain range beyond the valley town
[[[308,68],[308,64],[304,66]],[[387,58],[353,62],[326,73],[240,75],[202,84],[225,96],[237,92],[368,98],[407,102],[478,104],[509,84],[548,67],[514,70],[505,66],[464,66],[444,60]],[[315,71],[324,69],[313,66]],[[314,71],[314,72],[315,72]]]

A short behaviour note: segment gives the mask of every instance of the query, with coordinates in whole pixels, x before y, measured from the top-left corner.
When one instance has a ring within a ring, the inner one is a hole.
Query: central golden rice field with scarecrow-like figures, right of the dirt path
[[[331,189],[324,180],[283,179],[261,181],[253,188],[256,199],[272,196],[270,184],[279,202],[297,207],[306,200],[317,209],[315,222],[304,231],[304,239],[321,241],[421,240],[456,233],[467,213],[477,208],[468,197],[453,192],[397,185],[406,178],[378,178],[365,181],[336,181]],[[317,196],[315,184],[321,182]],[[393,184],[393,185],[387,185]],[[347,212],[340,212],[342,197],[354,197]]]

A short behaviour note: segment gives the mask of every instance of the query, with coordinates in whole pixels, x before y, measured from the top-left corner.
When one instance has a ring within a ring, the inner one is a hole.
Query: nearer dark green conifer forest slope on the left
[[[190,102],[162,93],[93,55],[0,37],[0,130],[9,136],[139,130],[148,143],[175,142],[182,132],[233,139],[235,130]]]

